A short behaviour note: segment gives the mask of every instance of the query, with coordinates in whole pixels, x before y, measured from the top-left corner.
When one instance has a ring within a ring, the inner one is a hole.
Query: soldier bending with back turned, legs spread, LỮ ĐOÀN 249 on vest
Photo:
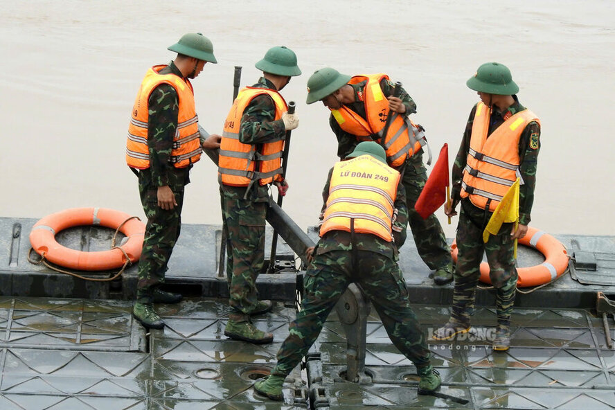
[[[429,347],[398,266],[397,249],[406,238],[408,215],[404,186],[399,172],[387,166],[384,148],[364,141],[346,161],[335,164],[323,189],[323,202],[321,238],[315,249],[308,249],[311,262],[301,309],[271,375],[256,382],[254,389],[272,400],[283,399],[285,377],[308,353],[346,287],[358,283],[395,347],[416,366],[418,393],[433,393],[440,386],[440,375],[431,366]]]

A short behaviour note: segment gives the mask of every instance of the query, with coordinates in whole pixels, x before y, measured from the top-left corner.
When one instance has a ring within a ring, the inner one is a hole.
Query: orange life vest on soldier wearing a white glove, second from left
[[[282,179],[280,175],[282,172],[281,157],[285,136],[256,145],[239,141],[244,109],[253,98],[262,94],[273,98],[276,105],[275,120],[282,118],[282,114],[288,109],[284,98],[273,89],[246,87],[239,92],[229,115],[226,116],[222,131],[220,159],[218,160],[218,176],[222,184],[249,186],[251,181],[259,180],[261,185],[265,185]]]

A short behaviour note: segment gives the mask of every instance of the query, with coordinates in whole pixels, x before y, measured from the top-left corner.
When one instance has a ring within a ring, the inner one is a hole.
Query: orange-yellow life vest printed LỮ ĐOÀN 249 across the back
[[[336,163],[320,235],[328,231],[355,231],[391,242],[399,181],[398,171],[371,155]]]

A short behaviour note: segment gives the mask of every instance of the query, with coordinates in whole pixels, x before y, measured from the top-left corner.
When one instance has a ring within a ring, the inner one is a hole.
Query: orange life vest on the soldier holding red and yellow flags
[[[495,211],[497,204],[519,175],[519,138],[528,123],[540,124],[528,109],[508,118],[488,136],[491,108],[478,103],[472,123],[470,152],[467,153],[461,197],[470,197],[475,206]]]

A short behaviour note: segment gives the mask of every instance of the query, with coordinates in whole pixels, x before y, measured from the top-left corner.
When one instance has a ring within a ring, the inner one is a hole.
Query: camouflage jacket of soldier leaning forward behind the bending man
[[[365,89],[365,84],[367,84],[367,81],[357,82],[357,84],[350,84],[350,86],[353,87],[355,91],[355,102],[346,105],[346,107],[352,109],[354,112],[359,114],[359,116],[362,116],[362,118],[366,118],[365,103],[363,97],[363,90]],[[385,96],[393,95],[394,85],[395,84],[393,84],[391,80],[383,79],[380,82],[380,88],[382,89],[382,92]],[[410,114],[416,112],[416,104],[408,95],[406,90],[403,89],[403,87],[400,93],[400,99],[402,100],[402,103],[404,103],[404,105],[406,106],[406,112],[404,112],[404,116],[409,116]],[[331,130],[333,130],[333,133],[337,137],[337,156],[339,157],[339,159],[344,159],[348,154],[350,154],[350,152],[353,152],[353,150],[355,150],[355,147],[359,143],[359,141],[357,141],[357,136],[342,130],[333,115],[329,117],[329,125],[331,126]]]

